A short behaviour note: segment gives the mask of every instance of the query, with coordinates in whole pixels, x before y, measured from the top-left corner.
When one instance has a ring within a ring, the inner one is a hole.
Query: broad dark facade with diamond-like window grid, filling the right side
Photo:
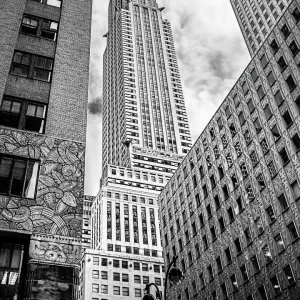
[[[159,196],[172,299],[299,299],[299,26],[291,1]]]

